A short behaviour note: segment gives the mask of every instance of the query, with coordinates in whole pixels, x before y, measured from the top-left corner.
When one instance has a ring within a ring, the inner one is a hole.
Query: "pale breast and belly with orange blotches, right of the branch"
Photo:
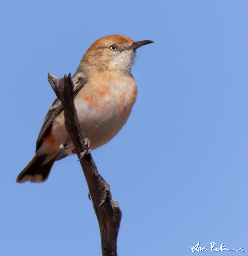
[[[129,117],[137,97],[134,79],[85,84],[75,97],[77,116],[92,148],[110,141]]]

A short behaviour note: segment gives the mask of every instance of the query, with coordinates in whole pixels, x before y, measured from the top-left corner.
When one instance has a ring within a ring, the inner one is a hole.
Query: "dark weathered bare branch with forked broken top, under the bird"
[[[77,118],[77,111],[73,99],[73,82],[65,75],[56,78],[48,73],[48,81],[64,108],[65,127],[80,158],[85,149],[84,136]],[[117,256],[117,236],[121,223],[122,212],[117,201],[111,200],[109,185],[102,179],[96,168],[91,154],[80,160],[85,179],[88,184],[93,207],[100,227],[102,255]]]

